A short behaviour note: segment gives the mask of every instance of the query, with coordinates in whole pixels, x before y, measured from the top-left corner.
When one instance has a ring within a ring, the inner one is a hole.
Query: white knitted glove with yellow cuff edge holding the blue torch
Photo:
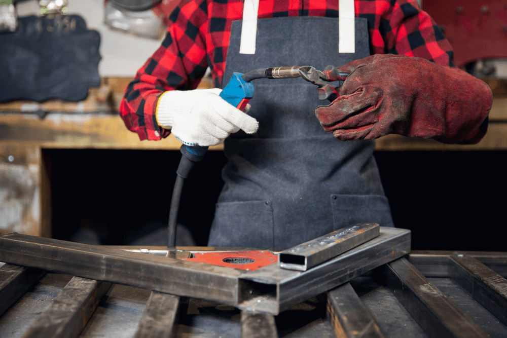
[[[231,133],[257,131],[259,123],[219,96],[222,89],[167,91],[157,102],[159,126],[187,145],[216,145]]]

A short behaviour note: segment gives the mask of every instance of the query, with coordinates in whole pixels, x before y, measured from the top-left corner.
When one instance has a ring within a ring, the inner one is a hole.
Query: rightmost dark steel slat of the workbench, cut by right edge
[[[450,277],[472,297],[507,325],[507,280],[475,258],[453,255],[449,261]]]

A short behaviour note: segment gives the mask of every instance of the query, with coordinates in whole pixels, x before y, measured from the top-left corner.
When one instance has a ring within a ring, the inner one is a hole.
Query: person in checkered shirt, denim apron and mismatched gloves
[[[120,114],[141,140],[224,142],[208,245],[291,247],[357,222],[392,227],[374,139],[485,133],[491,91],[454,66],[415,0],[184,0],[169,21]],[[248,114],[219,96],[234,71],[292,65],[350,75],[330,104],[300,78],[254,80]],[[198,90],[207,67],[216,88]]]

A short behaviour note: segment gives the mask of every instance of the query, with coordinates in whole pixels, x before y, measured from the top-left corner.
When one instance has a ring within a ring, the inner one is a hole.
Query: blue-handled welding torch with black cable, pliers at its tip
[[[255,79],[288,79],[303,78],[317,86],[319,100],[328,99],[331,102],[338,97],[336,88],[329,85],[331,81],[344,81],[348,73],[339,72],[335,67],[328,66],[320,71],[311,66],[284,66],[270,67],[251,70],[247,73],[234,72],[231,81],[224,87],[220,97],[244,111],[246,105],[253,97],[252,80]],[[188,177],[195,163],[202,161],[207,146],[183,144],[179,151],[182,159],[176,170],[176,181],[172,192],[171,206],[169,209],[168,239],[167,247],[176,246],[176,221],[178,216],[179,200],[182,194],[183,182]]]

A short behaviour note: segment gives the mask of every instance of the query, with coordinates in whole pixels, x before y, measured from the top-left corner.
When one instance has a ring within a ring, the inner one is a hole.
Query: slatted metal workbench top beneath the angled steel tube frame
[[[140,250],[137,247],[118,249]],[[180,255],[210,250],[195,247],[178,249]],[[150,247],[144,251],[164,254],[164,250],[163,247]],[[20,278],[15,283],[18,288],[15,291],[11,289],[10,294],[22,296],[0,317],[0,337],[45,336],[37,335],[35,331],[42,332],[43,326],[47,326],[41,323],[41,318],[54,307],[55,298],[65,293],[69,284],[90,282],[84,278],[76,281],[71,275],[5,265],[0,268],[0,272],[4,271],[4,275],[0,273],[0,310],[2,304],[8,301],[2,290],[6,290],[8,278],[5,278],[5,271],[9,269],[18,269],[16,276]],[[179,311],[179,319],[174,319],[172,336],[411,338],[489,335],[491,338],[505,338],[505,277],[507,252],[412,251],[276,316],[256,315],[231,305],[183,297],[179,302],[183,310]],[[155,301],[150,299],[151,290],[106,284],[109,283],[99,282],[94,288],[97,291],[87,298],[96,297],[96,310],[88,310],[93,314],[87,323],[81,322],[85,325],[84,329],[81,331],[79,325],[74,324],[66,328],[67,333],[75,330],[80,337],[148,336],[139,334],[140,324],[144,323],[145,329],[147,326],[146,312],[159,309],[155,311],[157,315],[178,311],[177,302],[174,309],[167,309],[171,303],[167,301],[169,298],[161,298],[163,304],[154,307]],[[23,285],[28,289],[23,290]],[[174,297],[158,292],[153,294]],[[354,325],[361,327],[361,320],[366,320],[365,329],[363,332],[354,331]],[[52,322],[56,322],[54,318]]]

